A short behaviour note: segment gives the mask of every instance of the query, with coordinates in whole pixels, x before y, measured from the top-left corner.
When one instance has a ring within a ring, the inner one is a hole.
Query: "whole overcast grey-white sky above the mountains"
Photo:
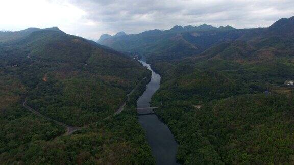
[[[294,16],[294,0],[0,0],[0,30],[58,26],[88,39],[174,25],[269,26]]]

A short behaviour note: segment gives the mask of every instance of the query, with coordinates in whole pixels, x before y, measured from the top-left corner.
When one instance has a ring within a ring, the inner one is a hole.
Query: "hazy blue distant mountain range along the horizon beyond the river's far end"
[[[285,34],[293,32],[292,22],[293,17],[283,18],[269,28],[253,29],[234,29],[230,26],[215,28],[209,25],[175,26],[170,30],[152,30],[135,35],[104,35],[98,42],[116,50],[140,53],[149,61],[164,61],[194,56],[224,42],[260,42],[257,46],[262,48],[281,40],[281,36],[291,39],[291,36]]]

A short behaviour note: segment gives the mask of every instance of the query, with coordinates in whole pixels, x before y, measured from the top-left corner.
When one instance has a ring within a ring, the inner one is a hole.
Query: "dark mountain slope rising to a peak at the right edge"
[[[222,59],[259,63],[294,54],[294,17],[282,18],[265,29],[251,29],[232,42],[222,42],[192,56],[195,61]]]

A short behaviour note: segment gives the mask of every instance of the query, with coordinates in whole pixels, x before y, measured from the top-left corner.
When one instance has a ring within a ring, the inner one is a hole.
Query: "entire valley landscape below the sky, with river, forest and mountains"
[[[292,164],[293,55],[294,17],[0,32],[0,164]]]

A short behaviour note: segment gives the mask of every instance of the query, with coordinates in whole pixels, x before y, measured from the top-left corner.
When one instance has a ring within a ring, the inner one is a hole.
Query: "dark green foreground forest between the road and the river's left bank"
[[[3,164],[155,164],[145,132],[137,122],[136,99],[148,78],[130,96],[120,114],[100,120],[69,136],[32,139],[0,155]],[[42,126],[42,125],[41,125]],[[41,127],[40,126],[40,127]],[[43,132],[42,132],[43,133]]]

